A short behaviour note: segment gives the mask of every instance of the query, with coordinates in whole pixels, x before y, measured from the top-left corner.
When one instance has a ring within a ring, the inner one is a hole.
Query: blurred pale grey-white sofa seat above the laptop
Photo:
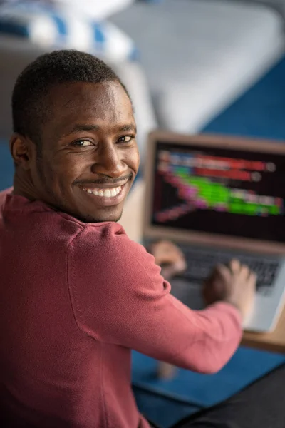
[[[195,133],[284,54],[275,9],[239,0],[138,1],[113,16],[135,41],[160,126]]]

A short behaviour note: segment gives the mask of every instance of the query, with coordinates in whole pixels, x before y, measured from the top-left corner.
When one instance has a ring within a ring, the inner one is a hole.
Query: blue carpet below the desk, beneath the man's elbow
[[[135,390],[138,406],[160,427],[171,427],[199,407],[208,407],[239,392],[249,383],[285,362],[284,355],[240,347],[228,364],[217,374],[199,374],[177,369],[171,380],[156,377],[157,361],[133,352],[133,382],[154,388],[156,392],[175,393],[175,396],[192,403],[180,404],[168,399],[159,399]],[[197,405],[195,405],[197,404]]]

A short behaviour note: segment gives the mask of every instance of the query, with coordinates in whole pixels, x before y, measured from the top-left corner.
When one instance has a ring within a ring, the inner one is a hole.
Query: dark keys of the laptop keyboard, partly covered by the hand
[[[264,294],[269,294],[279,270],[279,260],[257,258],[244,254],[233,255],[220,250],[212,250],[212,252],[209,252],[199,248],[184,246],[180,246],[180,248],[187,261],[187,270],[182,272],[179,277],[189,280],[190,282],[203,282],[217,263],[227,265],[232,258],[237,258],[241,263],[249,266],[251,270],[257,273],[257,290],[262,289]]]

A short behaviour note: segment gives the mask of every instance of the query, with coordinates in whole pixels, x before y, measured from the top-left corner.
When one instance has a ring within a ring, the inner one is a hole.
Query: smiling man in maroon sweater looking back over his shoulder
[[[149,427],[130,387],[130,350],[216,372],[239,345],[255,276],[237,261],[217,267],[204,286],[209,306],[192,311],[115,223],[139,155],[128,92],[103,61],[41,56],[16,81],[12,109],[14,190],[0,195],[1,427]],[[183,265],[171,245],[152,251],[172,272]],[[281,374],[261,381],[269,394]],[[260,397],[278,424],[258,414],[252,424],[239,402],[257,390],[240,395],[232,412],[224,404],[183,426],[284,428],[284,398]]]

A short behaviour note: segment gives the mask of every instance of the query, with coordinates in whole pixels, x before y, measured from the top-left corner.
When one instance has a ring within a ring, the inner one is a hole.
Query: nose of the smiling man
[[[92,170],[95,174],[119,178],[128,171],[128,165],[123,161],[122,153],[115,144],[106,143],[100,147]]]

